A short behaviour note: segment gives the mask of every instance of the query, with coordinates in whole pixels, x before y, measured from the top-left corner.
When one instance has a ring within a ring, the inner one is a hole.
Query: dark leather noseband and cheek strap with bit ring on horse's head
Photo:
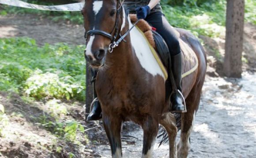
[[[94,29],[94,30],[89,30],[87,32],[85,32],[85,39],[88,38],[88,36],[93,36],[93,35],[102,35],[105,36],[107,38],[109,38],[111,40],[111,43],[109,44],[109,52],[112,53],[113,48],[117,47],[118,44],[116,42],[117,36],[120,33],[120,29],[118,27],[118,22],[119,22],[119,17],[120,17],[120,9],[122,8],[122,3],[120,3],[120,0],[118,0],[117,2],[117,15],[116,15],[116,22],[115,22],[115,26],[112,29],[112,31],[110,33],[105,32],[103,30],[99,30],[99,29]],[[123,13],[122,13],[123,15]],[[124,16],[124,15],[123,15]],[[121,18],[122,19],[122,18]],[[114,35],[112,35],[114,32]]]

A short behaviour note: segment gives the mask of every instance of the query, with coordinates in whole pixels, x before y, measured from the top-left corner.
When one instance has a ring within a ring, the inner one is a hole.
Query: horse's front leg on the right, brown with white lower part
[[[155,138],[158,133],[158,119],[147,116],[143,122],[143,150],[142,158],[152,158]]]

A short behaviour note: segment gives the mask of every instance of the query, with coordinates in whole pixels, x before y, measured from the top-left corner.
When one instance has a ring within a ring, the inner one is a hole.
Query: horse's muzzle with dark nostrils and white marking
[[[105,64],[106,53],[107,49],[99,49],[91,53],[87,53],[87,50],[84,51],[86,61],[94,68],[100,68]]]

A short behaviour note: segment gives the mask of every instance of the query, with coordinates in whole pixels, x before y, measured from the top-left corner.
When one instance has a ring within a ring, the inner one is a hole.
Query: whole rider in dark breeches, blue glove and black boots
[[[181,93],[181,48],[175,30],[162,13],[160,0],[124,0],[124,7],[126,10],[129,10],[130,13],[136,13],[138,19],[145,19],[151,26],[156,28],[156,31],[165,39],[171,56],[171,70],[169,71],[169,76],[173,76],[169,77],[169,80],[174,84],[173,94],[170,98],[172,103],[171,111],[183,112],[185,107],[182,104],[183,96]],[[98,120],[101,118],[101,107],[95,90],[94,97],[95,99],[92,103],[94,107],[87,117],[88,121]]]

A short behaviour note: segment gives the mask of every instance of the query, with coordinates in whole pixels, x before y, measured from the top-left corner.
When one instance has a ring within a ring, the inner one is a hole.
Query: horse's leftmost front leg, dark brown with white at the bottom
[[[105,132],[109,139],[112,158],[122,158],[121,118],[103,115],[102,121]]]

